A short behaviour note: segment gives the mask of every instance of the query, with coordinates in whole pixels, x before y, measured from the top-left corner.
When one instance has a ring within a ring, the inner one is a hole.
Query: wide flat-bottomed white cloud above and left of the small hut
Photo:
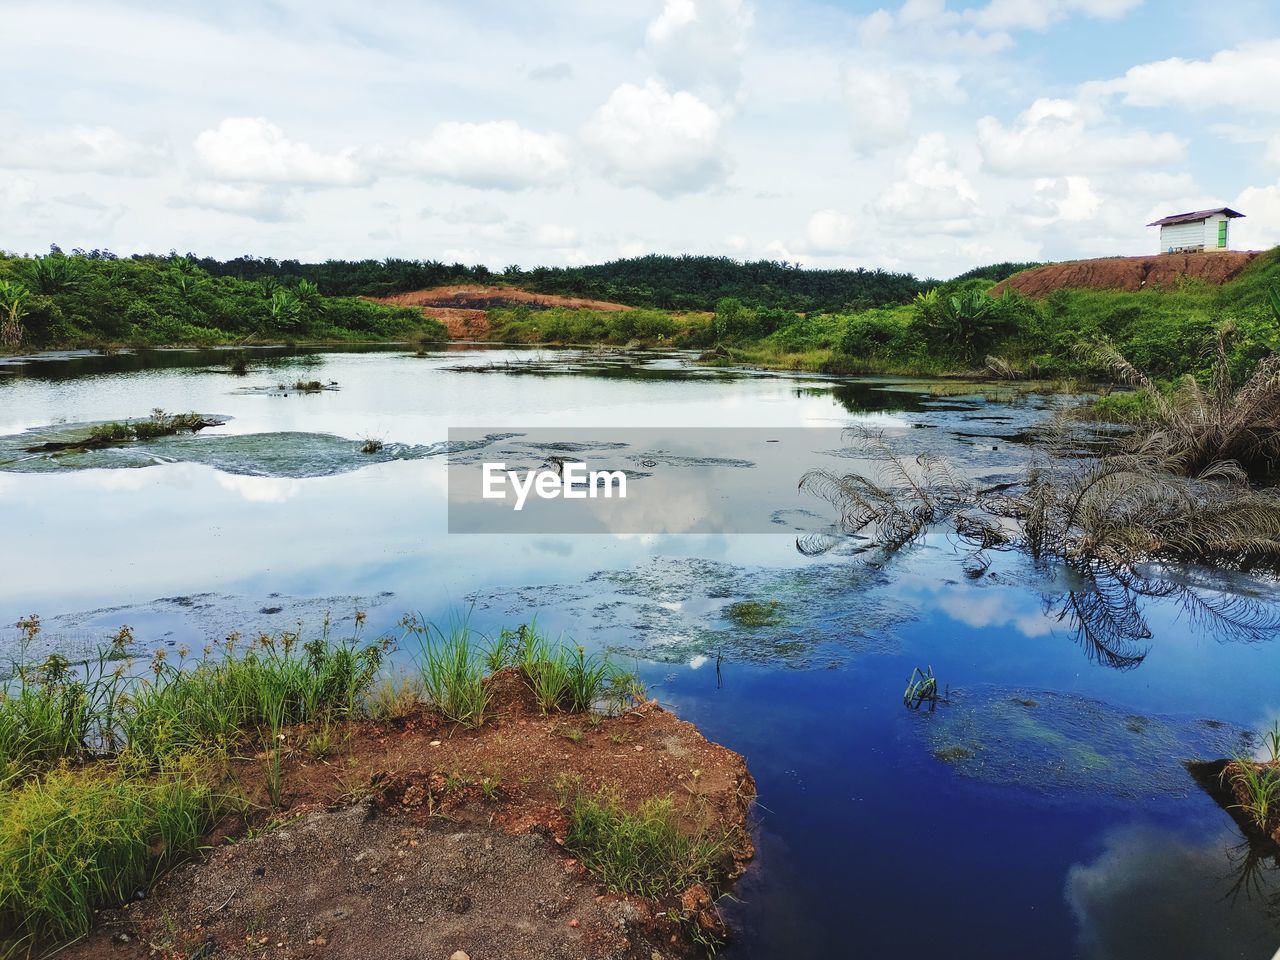
[[[983,116],[978,148],[988,170],[1042,177],[1162,166],[1185,152],[1171,133],[1115,127],[1094,104],[1051,99],[1033,102],[1011,127]]]

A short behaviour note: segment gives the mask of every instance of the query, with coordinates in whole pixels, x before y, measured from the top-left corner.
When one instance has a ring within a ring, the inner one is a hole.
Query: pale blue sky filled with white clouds
[[[1274,0],[3,0],[0,250],[946,278],[1280,243]]]

